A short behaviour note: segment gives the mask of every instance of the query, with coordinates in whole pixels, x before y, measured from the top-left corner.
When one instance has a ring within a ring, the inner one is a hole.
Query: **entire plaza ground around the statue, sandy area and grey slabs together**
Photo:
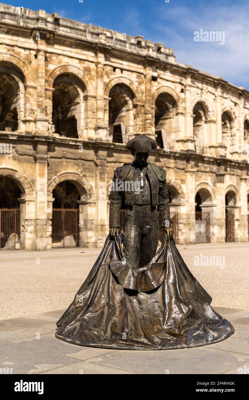
[[[235,327],[235,334],[229,339],[209,346],[164,351],[84,348],[62,342],[54,337],[56,321],[101,250],[3,251],[0,367],[12,368],[13,374],[245,371],[249,366],[248,243],[177,247],[193,275],[213,297],[213,308]],[[199,264],[205,264],[205,256],[225,256],[225,264],[194,265],[197,256]]]

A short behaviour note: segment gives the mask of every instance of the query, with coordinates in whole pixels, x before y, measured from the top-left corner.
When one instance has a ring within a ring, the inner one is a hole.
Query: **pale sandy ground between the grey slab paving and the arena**
[[[249,309],[248,242],[178,245],[177,248],[192,274],[212,296],[213,306]],[[100,251],[74,248],[0,252],[0,301],[4,305],[0,319],[66,310]],[[199,264],[205,264],[205,256],[219,256],[221,263],[194,265],[198,258]]]

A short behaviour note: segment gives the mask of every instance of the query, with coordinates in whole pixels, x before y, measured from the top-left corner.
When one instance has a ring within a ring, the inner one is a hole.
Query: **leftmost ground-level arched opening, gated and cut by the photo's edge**
[[[14,180],[0,176],[0,250],[20,249],[21,194]]]

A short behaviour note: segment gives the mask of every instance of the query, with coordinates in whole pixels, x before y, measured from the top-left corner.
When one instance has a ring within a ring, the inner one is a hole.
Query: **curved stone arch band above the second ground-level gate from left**
[[[90,200],[94,197],[94,190],[88,180],[78,172],[61,172],[54,176],[48,183],[48,197],[52,198],[52,192],[56,186],[65,180],[72,182],[80,193],[81,200]]]

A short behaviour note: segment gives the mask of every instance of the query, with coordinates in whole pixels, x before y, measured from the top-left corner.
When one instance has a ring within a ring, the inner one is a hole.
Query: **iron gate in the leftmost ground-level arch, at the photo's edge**
[[[0,250],[20,249],[20,208],[0,208]]]

